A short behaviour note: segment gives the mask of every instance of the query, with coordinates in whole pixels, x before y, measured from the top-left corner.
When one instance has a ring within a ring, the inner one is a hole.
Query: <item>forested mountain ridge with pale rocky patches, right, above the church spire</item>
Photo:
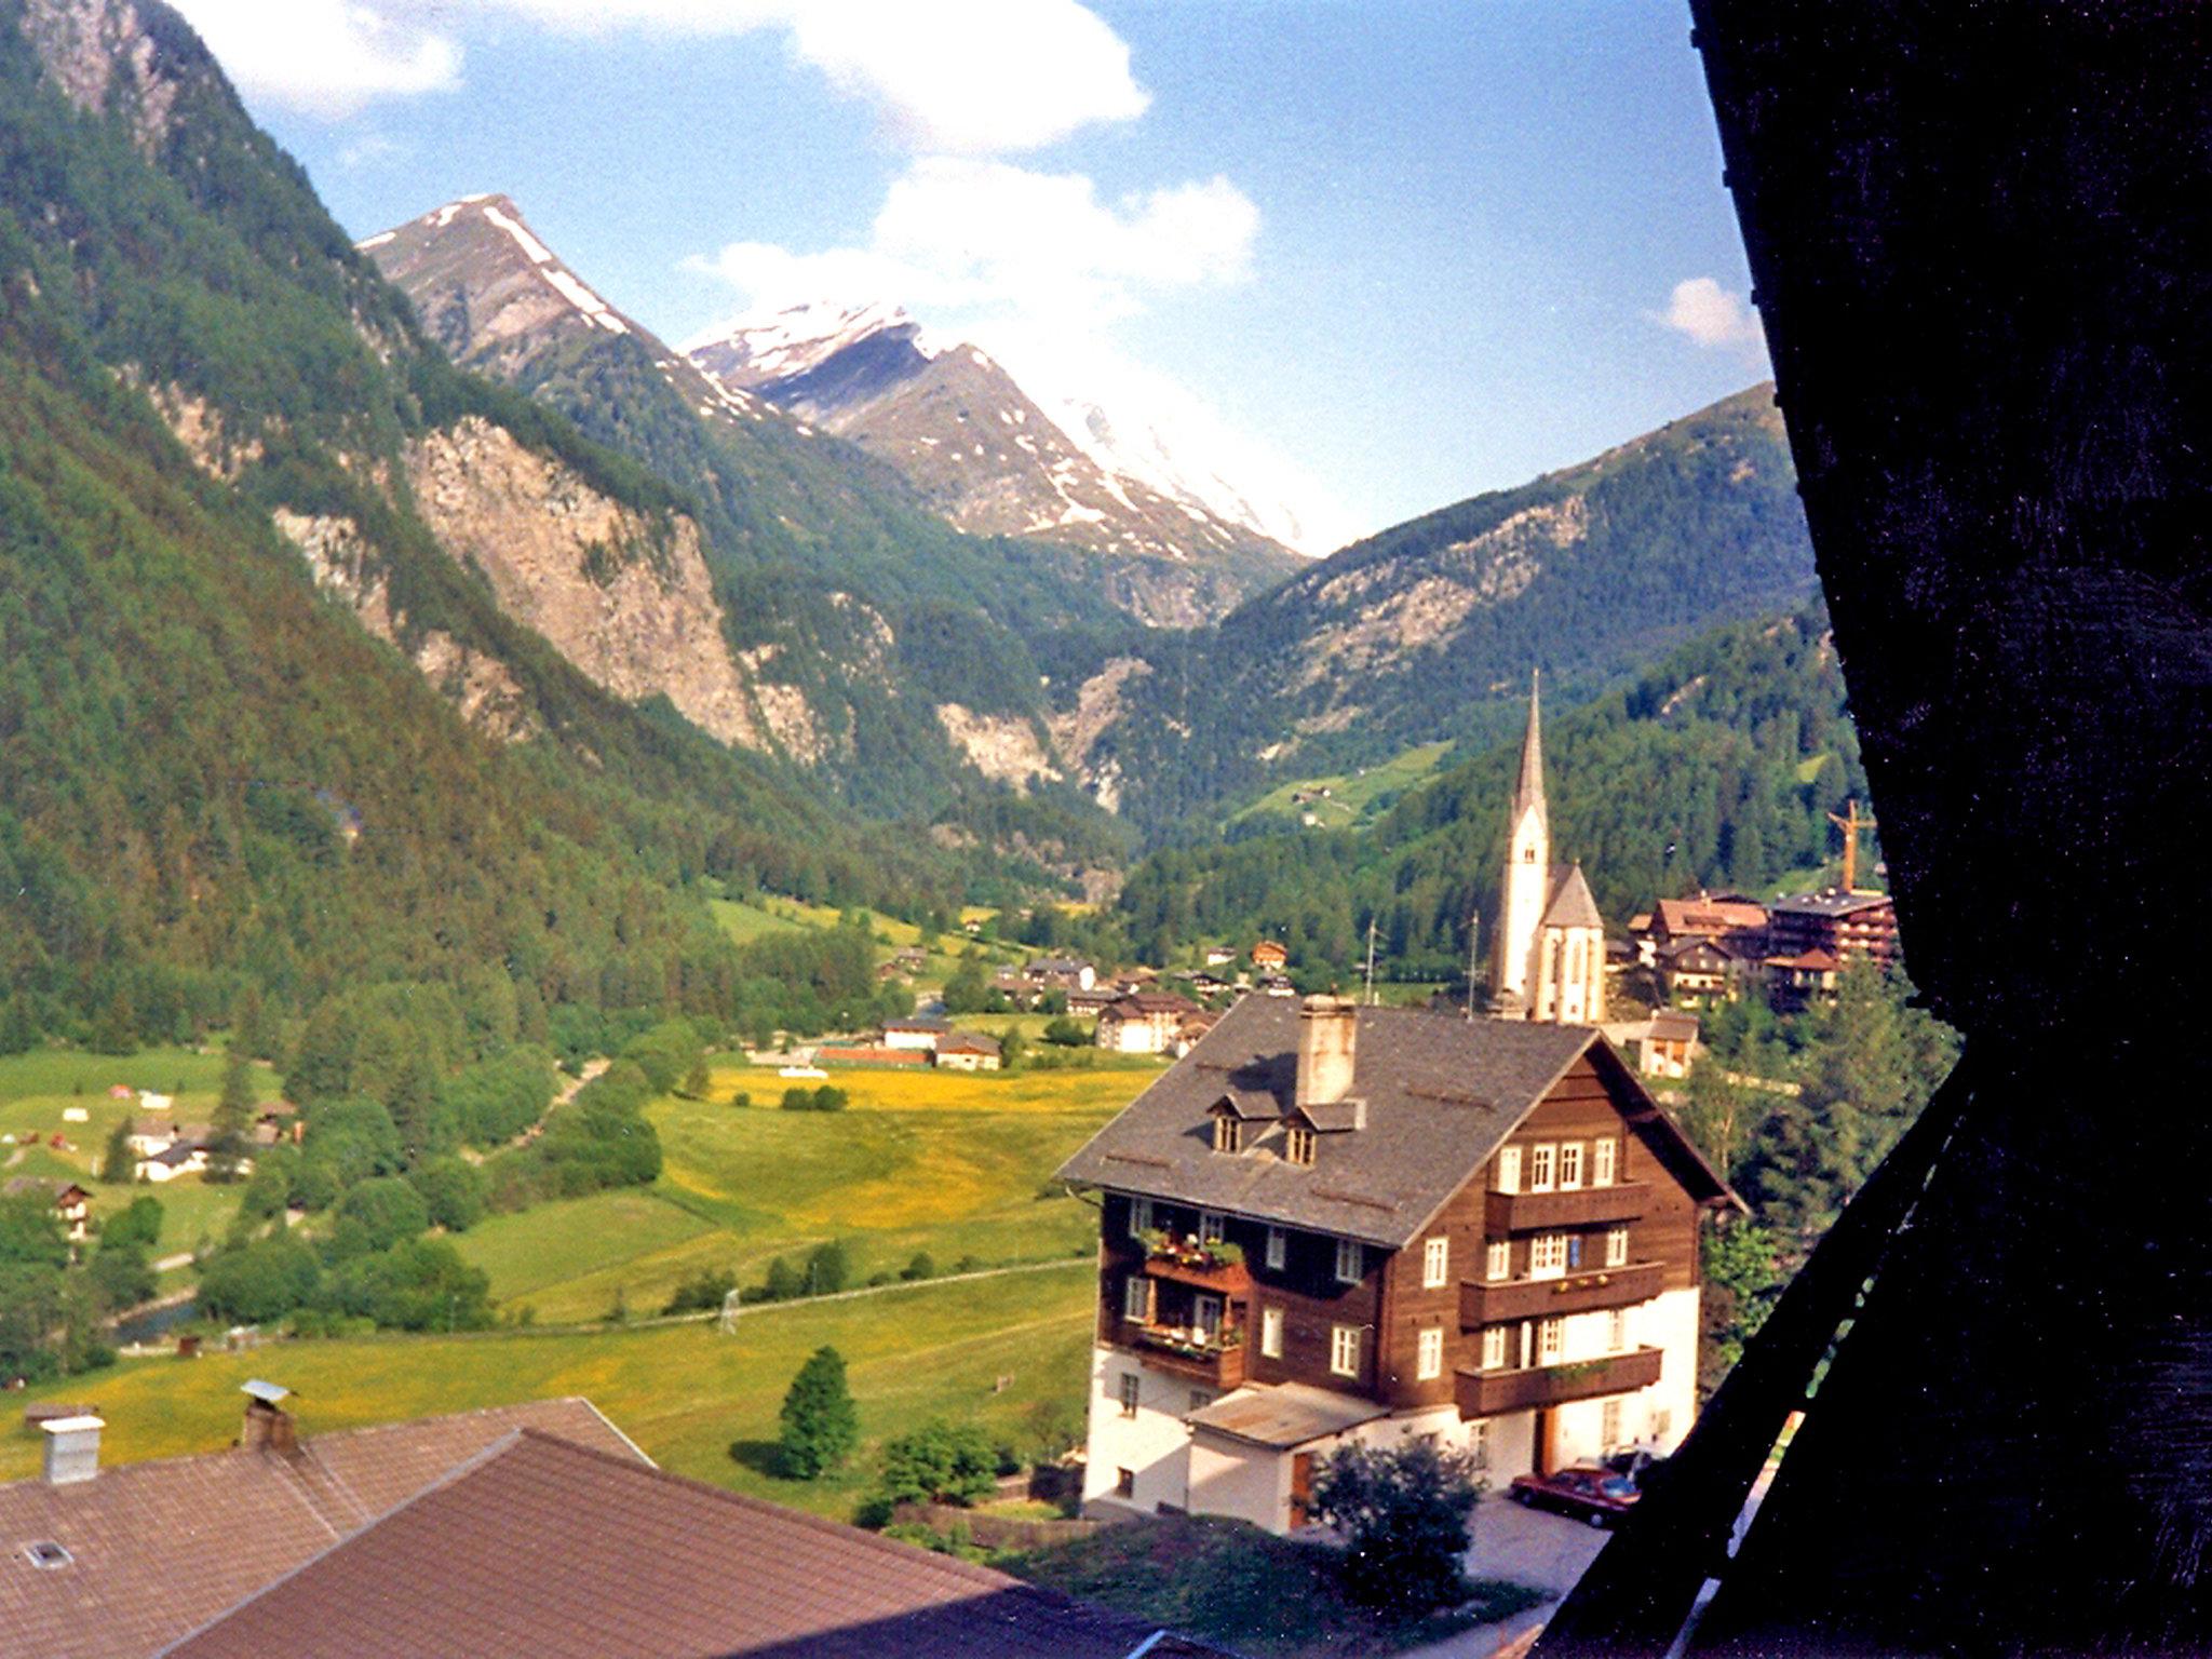
[[[1203,635],[1048,661],[1071,772],[1148,830],[1511,721],[1814,586],[1772,387],[1307,566]]]

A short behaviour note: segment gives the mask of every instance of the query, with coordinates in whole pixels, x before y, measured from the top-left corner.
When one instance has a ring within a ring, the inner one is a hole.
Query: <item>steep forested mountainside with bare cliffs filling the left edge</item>
[[[0,0],[0,1037],[392,982],[507,1035],[734,1018],[701,883],[918,914],[989,878],[706,734],[763,710],[684,661],[732,622],[701,549],[451,367],[166,4]],[[666,675],[624,681],[606,635],[653,626]]]

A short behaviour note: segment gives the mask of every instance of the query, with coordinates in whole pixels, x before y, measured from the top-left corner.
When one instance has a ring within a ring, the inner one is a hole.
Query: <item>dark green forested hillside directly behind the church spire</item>
[[[1524,692],[1526,695],[1526,692]],[[1765,891],[1829,856],[1827,812],[1865,794],[1823,611],[1732,624],[1546,714],[1553,856],[1582,860],[1613,931],[1661,894]],[[1303,978],[1352,982],[1367,922],[1389,978],[1449,980],[1495,916],[1515,748],[1498,743],[1367,830],[1248,818],[1228,843],[1159,852],[1119,914],[1152,960],[1281,938]]]

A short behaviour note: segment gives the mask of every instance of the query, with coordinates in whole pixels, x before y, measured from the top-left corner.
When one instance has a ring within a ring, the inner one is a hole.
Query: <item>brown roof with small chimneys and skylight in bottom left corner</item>
[[[0,1652],[144,1659],[522,1427],[644,1467],[588,1400],[538,1400],[0,1486]],[[46,1542],[66,1566],[31,1564]]]

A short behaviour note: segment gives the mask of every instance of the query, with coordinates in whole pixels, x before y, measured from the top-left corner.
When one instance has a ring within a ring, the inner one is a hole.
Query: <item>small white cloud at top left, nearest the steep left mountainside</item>
[[[177,0],[248,97],[345,119],[378,97],[460,86],[460,46],[411,4],[356,0]]]

